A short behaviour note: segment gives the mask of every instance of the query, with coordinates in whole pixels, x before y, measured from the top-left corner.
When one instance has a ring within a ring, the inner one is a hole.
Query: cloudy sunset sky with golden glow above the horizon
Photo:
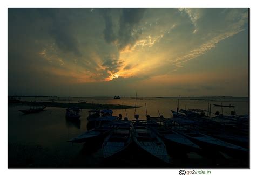
[[[8,95],[248,96],[247,8],[9,8]]]

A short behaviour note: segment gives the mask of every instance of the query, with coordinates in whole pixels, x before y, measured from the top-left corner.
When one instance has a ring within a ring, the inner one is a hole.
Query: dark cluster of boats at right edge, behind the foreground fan
[[[209,117],[202,113],[195,114],[196,110],[172,111],[174,118],[183,118],[183,120],[192,120],[198,123],[198,130],[204,134],[239,145],[245,148],[249,147],[248,138],[248,117],[242,119],[240,116]],[[200,111],[200,110],[197,110]]]

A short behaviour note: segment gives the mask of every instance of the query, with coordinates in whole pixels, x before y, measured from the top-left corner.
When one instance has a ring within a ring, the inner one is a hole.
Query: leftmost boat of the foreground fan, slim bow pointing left
[[[102,125],[97,128],[91,129],[78,135],[75,138],[70,139],[68,142],[83,143],[87,141],[93,141],[99,138],[104,138],[113,129],[111,125]]]

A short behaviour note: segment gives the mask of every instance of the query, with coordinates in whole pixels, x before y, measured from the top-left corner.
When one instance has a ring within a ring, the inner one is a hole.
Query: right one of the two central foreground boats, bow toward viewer
[[[141,149],[154,157],[169,163],[169,157],[164,142],[157,136],[156,132],[147,126],[133,125],[133,141]]]

